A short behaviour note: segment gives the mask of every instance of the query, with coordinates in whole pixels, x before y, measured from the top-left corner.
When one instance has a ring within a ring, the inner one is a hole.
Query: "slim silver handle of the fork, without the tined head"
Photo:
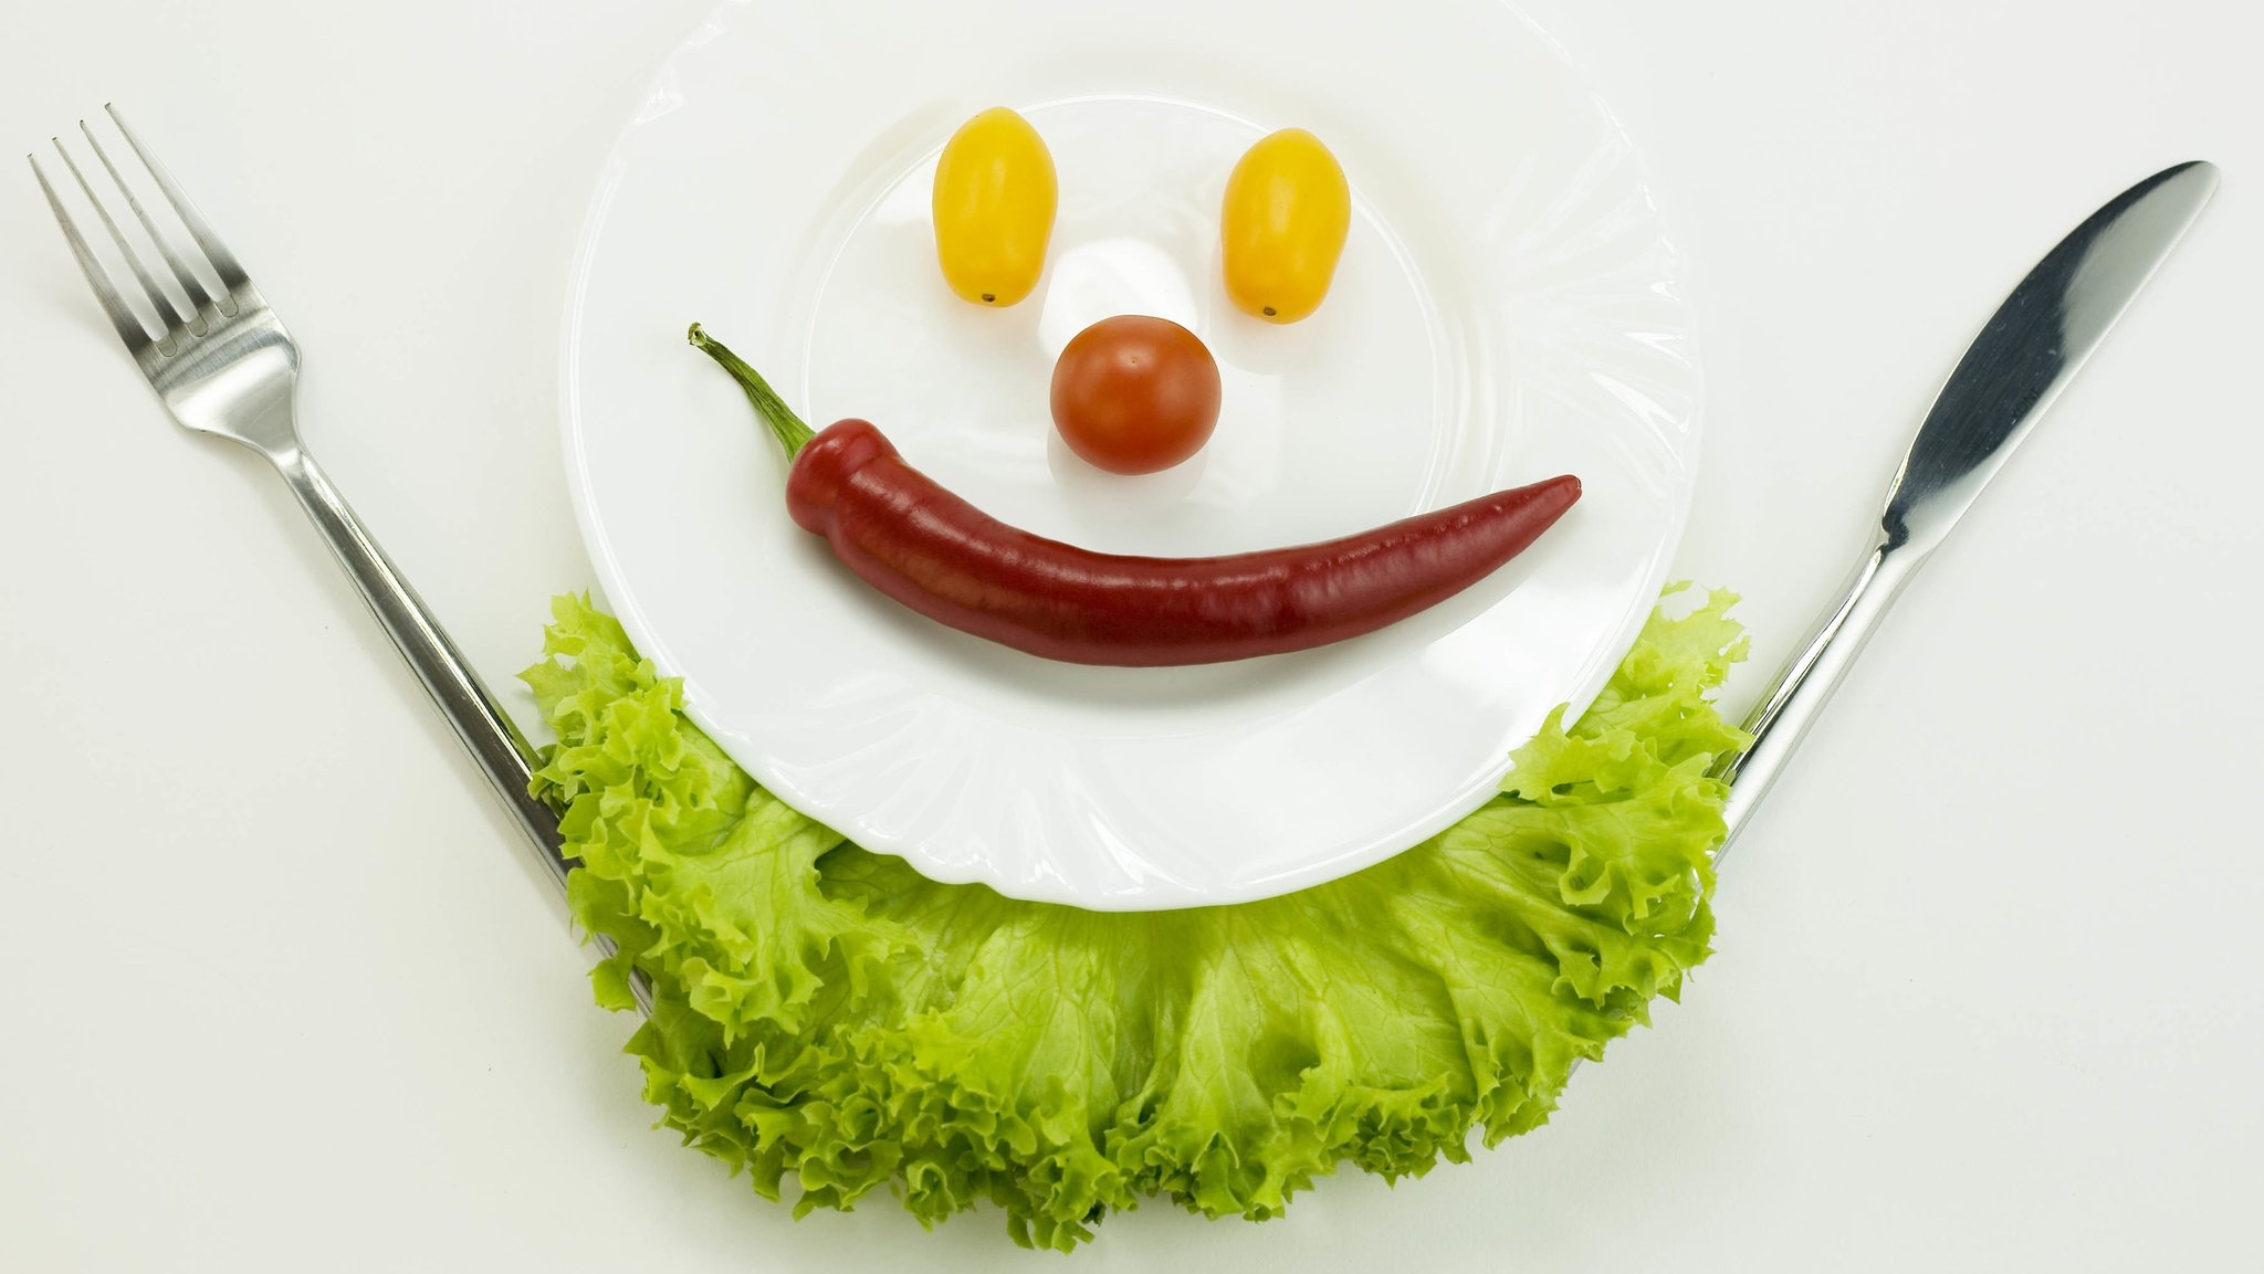
[[[455,649],[455,643],[448,640],[448,629],[439,627],[423,597],[410,588],[410,582],[401,577],[394,561],[385,557],[385,550],[378,548],[362,518],[353,516],[353,507],[337,493],[331,475],[315,464],[315,457],[306,448],[292,448],[269,453],[267,459],[274,462],[283,482],[290,484],[306,516],[315,520],[315,530],[321,532],[337,563],[346,568],[353,586],[369,602],[369,611],[385,625],[385,636],[394,638],[394,649],[401,652],[401,658],[410,661],[410,670],[423,681],[423,688],[432,695],[432,704],[455,726],[455,738],[480,763],[487,783],[503,797],[505,808],[512,810],[512,821],[518,824],[518,830],[528,833],[528,849],[534,851],[534,858],[557,878],[564,892],[566,873],[582,862],[564,853],[566,842],[559,835],[559,819],[550,812],[550,806],[528,792],[534,778],[534,749],[528,744],[528,735],[518,733],[512,717],[503,715],[496,697],[480,683],[480,674],[464,661],[464,652]],[[600,953],[614,955],[609,937],[593,935],[593,941]],[[643,975],[632,975],[629,989],[636,993],[638,1007],[652,1014],[652,987]]]

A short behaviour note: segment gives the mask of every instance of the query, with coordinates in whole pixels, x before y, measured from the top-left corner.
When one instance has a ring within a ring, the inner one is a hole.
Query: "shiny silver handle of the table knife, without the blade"
[[[1863,654],[1863,643],[1886,618],[1886,609],[1895,604],[1924,561],[1927,550],[1902,536],[1890,536],[1881,527],[1870,552],[1856,561],[1854,575],[1847,577],[1841,600],[1825,609],[1809,638],[1800,643],[1800,652],[1784,663],[1761,704],[1746,717],[1752,747],[1725,756],[1712,772],[1714,778],[1730,785],[1730,799],[1721,812],[1727,830],[1714,851],[1716,864],[1730,853],[1730,842],[1736,840],[1752,808],[1784,772],[1793,749],[1800,747],[1825,701],[1847,677],[1847,668]]]

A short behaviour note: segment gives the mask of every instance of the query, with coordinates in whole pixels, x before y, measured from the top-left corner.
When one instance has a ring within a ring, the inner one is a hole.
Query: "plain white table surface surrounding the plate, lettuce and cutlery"
[[[555,412],[584,197],[706,5],[7,0],[0,143],[131,111],[306,346],[312,448],[503,683],[589,582]],[[1594,9],[1535,14],[1693,260],[1680,573],[1748,595],[1755,665],[2019,274],[2164,163],[2226,190],[1739,844],[1687,1005],[1476,1165],[1263,1226],[1155,1206],[1075,1263],[2255,1263],[2264,23]],[[650,1127],[629,1021],[446,726],[281,484],[165,423],[25,170],[0,373],[0,1265],[1055,1260],[996,1215],[792,1224]]]

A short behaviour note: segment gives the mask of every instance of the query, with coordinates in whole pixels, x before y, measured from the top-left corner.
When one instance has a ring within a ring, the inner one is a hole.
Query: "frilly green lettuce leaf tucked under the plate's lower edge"
[[[618,944],[598,1002],[652,980],[627,1048],[688,1145],[797,1215],[989,1199],[1066,1251],[1152,1195],[1261,1220],[1345,1161],[1463,1161],[1678,998],[1714,930],[1705,772],[1746,742],[1707,701],[1743,656],[1732,602],[1653,616],[1453,828],[1236,907],[1080,912],[867,853],[747,778],[580,597],[523,674],[559,738],[534,792],[582,858],[575,916]]]

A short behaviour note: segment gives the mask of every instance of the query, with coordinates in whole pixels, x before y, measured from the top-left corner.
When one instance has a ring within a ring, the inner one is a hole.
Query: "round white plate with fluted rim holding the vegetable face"
[[[1012,310],[935,269],[928,183],[992,104],[1046,136],[1053,260]],[[1356,219],[1329,303],[1275,328],[1218,283],[1227,172],[1320,134]],[[1096,910],[1236,903],[1379,862],[1481,806],[1603,686],[1693,480],[1678,260],[1628,140],[1492,0],[724,5],[623,134],[566,333],[582,532],[638,647],[797,808],[937,880]],[[1173,317],[1225,376],[1161,475],[1053,437],[1053,355]],[[1302,543],[1578,473],[1583,502],[1463,597],[1336,647],[1191,670],[942,629],[799,532],[783,462],[693,319],[815,423],[876,421],[978,507],[1116,552]]]

